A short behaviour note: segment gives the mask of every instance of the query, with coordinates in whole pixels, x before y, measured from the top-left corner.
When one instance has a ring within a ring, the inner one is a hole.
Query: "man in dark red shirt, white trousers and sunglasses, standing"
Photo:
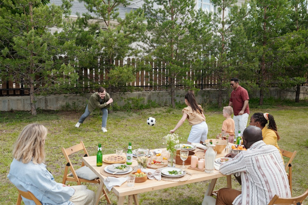
[[[232,78],[230,80],[230,85],[233,91],[231,92],[229,106],[233,107],[235,135],[238,135],[238,131],[240,130],[241,133],[243,133],[247,126],[249,117],[249,96],[247,90],[239,85],[238,78]],[[234,137],[234,139],[236,138]]]

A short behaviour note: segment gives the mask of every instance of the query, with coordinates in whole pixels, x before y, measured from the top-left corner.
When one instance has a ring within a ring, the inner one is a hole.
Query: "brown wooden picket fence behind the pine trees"
[[[165,69],[165,63],[161,61],[144,62],[139,59],[127,58],[126,60],[117,60],[114,62],[116,66],[131,65],[133,67],[147,65],[152,69],[136,72],[136,79],[133,82],[127,83],[127,86],[135,87],[135,91],[162,91],[167,89],[168,78],[166,78],[168,70]],[[103,66],[102,66],[103,67]],[[150,70],[150,71],[148,71]],[[94,92],[98,85],[104,85],[108,79],[108,69],[106,68],[76,68],[79,78],[75,83],[75,91],[78,93]],[[39,76],[37,77],[39,78]],[[217,78],[212,73],[206,73],[204,69],[191,68],[186,76],[183,78],[193,82],[193,86],[198,89],[216,89]],[[175,89],[186,89],[184,85],[180,84],[183,79],[175,79]],[[228,83],[229,79],[226,79]],[[29,89],[23,85],[22,79],[19,81],[3,81],[0,79],[0,96],[18,96],[29,95]],[[303,86],[307,86],[306,82]],[[189,88],[188,88],[189,89]],[[112,88],[112,92],[119,92],[116,87]]]

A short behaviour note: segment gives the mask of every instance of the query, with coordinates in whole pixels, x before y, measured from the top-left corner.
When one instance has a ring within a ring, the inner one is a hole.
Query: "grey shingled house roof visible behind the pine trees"
[[[71,7],[71,15],[77,15],[77,13],[79,13],[80,15],[87,12],[90,13],[84,6],[85,4],[84,2],[79,2],[78,0],[74,0],[71,3],[73,4],[73,6]],[[62,0],[50,0],[50,4],[61,6]],[[136,8],[118,6],[118,12],[121,18],[125,18],[125,14],[129,13],[131,10],[136,10]],[[93,12],[91,12],[90,14],[91,16],[95,16]]]

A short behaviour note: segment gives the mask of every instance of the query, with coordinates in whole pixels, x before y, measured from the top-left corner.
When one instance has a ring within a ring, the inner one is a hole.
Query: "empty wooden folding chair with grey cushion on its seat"
[[[97,175],[94,174],[94,172],[90,168],[84,166],[83,162],[82,162],[81,167],[79,169],[77,169],[77,170],[74,169],[74,166],[71,163],[69,156],[71,154],[74,154],[74,153],[79,152],[79,151],[83,151],[83,156],[85,156],[85,157],[89,156],[87,149],[83,144],[83,141],[80,141],[79,144],[76,144],[76,145],[74,145],[70,148],[66,148],[66,149],[62,148],[62,152],[64,154],[66,161],[67,161],[67,164],[66,164],[65,170],[64,170],[64,176],[63,176],[62,183],[65,184],[66,181],[77,182],[78,185],[81,185],[81,182],[98,183],[98,184],[103,183],[97,177]],[[68,173],[68,168],[70,168],[71,173]],[[84,175],[82,175],[82,174],[84,174]],[[91,176],[89,176],[89,175],[91,175]],[[107,195],[107,192],[104,188],[103,188],[102,192],[103,192],[103,195],[100,197],[100,199],[105,196],[107,203],[111,203],[111,201],[110,201],[110,199]]]

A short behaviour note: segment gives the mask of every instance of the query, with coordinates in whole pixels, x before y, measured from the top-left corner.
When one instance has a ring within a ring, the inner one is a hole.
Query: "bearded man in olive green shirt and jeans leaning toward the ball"
[[[91,114],[91,112],[95,108],[99,108],[103,112],[102,116],[102,131],[107,132],[107,118],[108,118],[108,110],[107,108],[110,107],[110,104],[113,102],[110,95],[106,93],[106,89],[103,87],[99,87],[96,93],[93,93],[89,98],[86,110],[75,124],[76,128],[79,128],[80,124]]]

